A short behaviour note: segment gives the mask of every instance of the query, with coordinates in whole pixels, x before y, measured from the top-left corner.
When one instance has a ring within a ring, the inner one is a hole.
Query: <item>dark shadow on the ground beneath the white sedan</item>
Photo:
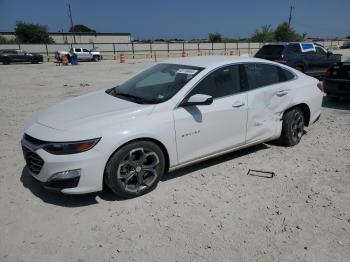
[[[213,165],[218,165],[220,163],[230,161],[232,159],[242,157],[260,150],[268,149],[268,148],[270,148],[268,144],[259,144],[246,149],[241,149],[232,153],[228,153],[222,156],[208,159],[206,161],[193,164],[173,172],[169,172],[162,177],[161,182],[166,182],[171,179],[179,178],[179,177],[188,175],[192,172],[198,171],[200,169],[204,169]],[[65,195],[65,194],[50,192],[44,189],[42,185],[29,174],[26,167],[24,167],[22,170],[20,180],[23,186],[29,189],[33,193],[33,195],[40,198],[45,203],[57,205],[57,206],[74,208],[74,207],[94,205],[94,204],[98,204],[97,197],[105,201],[127,200],[116,196],[108,188],[104,188],[102,192],[84,194],[84,195]],[[159,186],[161,186],[161,184]]]

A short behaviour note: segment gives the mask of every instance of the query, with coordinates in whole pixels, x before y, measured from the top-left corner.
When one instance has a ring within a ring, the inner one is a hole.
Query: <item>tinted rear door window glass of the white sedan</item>
[[[281,82],[278,66],[268,64],[245,64],[249,89],[273,85]]]

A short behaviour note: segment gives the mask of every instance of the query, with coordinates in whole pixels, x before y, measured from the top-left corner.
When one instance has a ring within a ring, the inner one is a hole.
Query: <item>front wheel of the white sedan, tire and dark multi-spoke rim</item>
[[[131,142],[113,154],[106,165],[106,185],[122,198],[153,190],[165,172],[162,150],[150,141]]]

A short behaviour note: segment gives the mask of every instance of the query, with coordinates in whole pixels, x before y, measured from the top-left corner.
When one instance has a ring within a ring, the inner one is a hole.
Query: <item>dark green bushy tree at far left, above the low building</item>
[[[20,43],[51,44],[53,39],[47,32],[47,27],[39,24],[17,22],[15,28],[16,38]]]

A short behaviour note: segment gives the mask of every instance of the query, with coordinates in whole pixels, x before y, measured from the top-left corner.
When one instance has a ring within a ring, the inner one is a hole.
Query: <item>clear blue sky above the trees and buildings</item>
[[[97,32],[131,33],[133,39],[249,37],[263,25],[288,20],[309,37],[350,35],[350,0],[0,0],[0,31],[13,31],[16,21],[67,31],[67,4],[74,24]]]

